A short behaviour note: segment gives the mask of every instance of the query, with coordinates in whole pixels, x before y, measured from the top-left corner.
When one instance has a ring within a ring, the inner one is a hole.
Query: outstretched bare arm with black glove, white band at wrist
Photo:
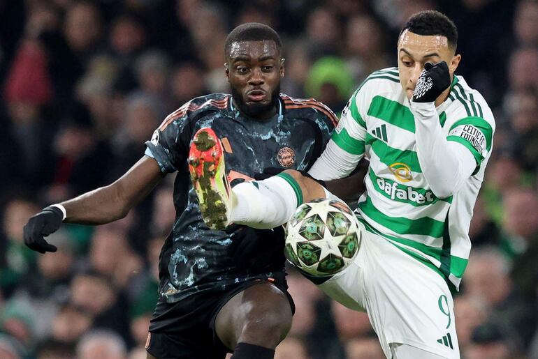
[[[43,238],[59,229],[61,222],[105,224],[123,218],[161,181],[157,162],[144,156],[121,178],[105,187],[49,206],[28,220],[24,226],[24,243],[41,253],[56,252],[56,247]]]

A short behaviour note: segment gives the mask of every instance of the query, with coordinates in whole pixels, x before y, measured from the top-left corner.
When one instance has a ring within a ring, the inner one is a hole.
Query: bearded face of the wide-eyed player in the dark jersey
[[[226,77],[235,105],[256,119],[273,116],[284,76],[284,59],[275,42],[232,43],[226,60]]]

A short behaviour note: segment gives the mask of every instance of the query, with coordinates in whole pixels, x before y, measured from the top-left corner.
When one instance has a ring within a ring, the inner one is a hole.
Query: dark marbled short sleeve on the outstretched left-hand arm
[[[169,114],[145,142],[145,154],[157,161],[163,174],[177,171],[187,160],[192,132],[188,107],[189,102]]]

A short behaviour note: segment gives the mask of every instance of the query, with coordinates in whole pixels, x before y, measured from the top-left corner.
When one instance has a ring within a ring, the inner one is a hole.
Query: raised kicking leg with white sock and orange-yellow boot
[[[224,167],[224,152],[215,132],[198,130],[189,152],[189,171],[204,221],[211,229],[224,229],[232,222],[261,229],[277,227],[304,201],[328,193],[293,169],[263,181],[240,183],[230,190]]]

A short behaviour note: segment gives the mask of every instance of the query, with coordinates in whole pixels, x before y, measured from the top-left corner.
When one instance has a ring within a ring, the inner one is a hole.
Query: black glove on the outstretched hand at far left
[[[60,208],[43,208],[40,213],[30,217],[24,226],[24,244],[40,253],[56,252],[57,247],[47,243],[43,237],[57,231],[63,219],[64,213],[61,213]]]

